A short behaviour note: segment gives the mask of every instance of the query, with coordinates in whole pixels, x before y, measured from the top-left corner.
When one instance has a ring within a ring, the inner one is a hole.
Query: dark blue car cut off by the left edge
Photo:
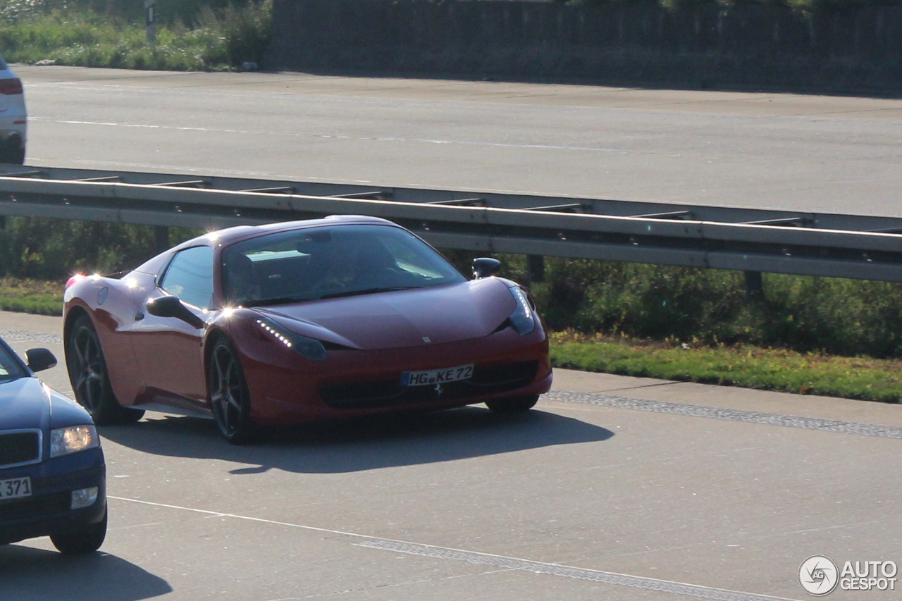
[[[94,552],[106,537],[100,438],[87,411],[35,377],[56,357],[25,356],[0,339],[0,544],[50,536],[62,553]]]

